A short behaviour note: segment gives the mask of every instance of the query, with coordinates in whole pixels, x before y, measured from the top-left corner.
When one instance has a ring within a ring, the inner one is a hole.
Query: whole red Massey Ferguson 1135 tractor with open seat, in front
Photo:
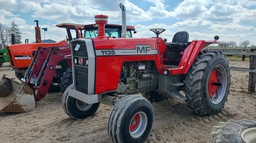
[[[125,15],[125,7],[120,7]],[[134,143],[146,141],[154,123],[150,101],[138,93],[185,100],[199,115],[215,114],[224,107],[230,87],[228,60],[220,51],[202,51],[219,43],[218,36],[214,41],[189,42],[189,34],[182,31],[165,42],[159,37],[164,29],[151,29],[156,37],[111,38],[104,33],[108,16],[95,19],[100,23],[97,37],[71,41],[73,84],[62,99],[68,116],[84,119],[100,103],[113,106],[109,137],[113,142]],[[122,24],[125,33],[125,19]]]

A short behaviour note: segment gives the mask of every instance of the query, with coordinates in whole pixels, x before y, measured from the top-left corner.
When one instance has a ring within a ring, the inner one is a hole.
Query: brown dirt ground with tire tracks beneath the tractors
[[[249,67],[249,62],[230,61],[230,66]],[[1,77],[3,73],[15,77],[9,63],[0,68]],[[247,92],[249,73],[231,73],[228,102],[216,115],[195,115],[185,102],[174,99],[152,103],[155,123],[147,142],[207,142],[210,129],[218,122],[256,120],[256,94]],[[110,142],[107,122],[111,109],[101,105],[94,116],[74,120],[63,111],[61,93],[47,94],[33,111],[0,113],[0,142]]]

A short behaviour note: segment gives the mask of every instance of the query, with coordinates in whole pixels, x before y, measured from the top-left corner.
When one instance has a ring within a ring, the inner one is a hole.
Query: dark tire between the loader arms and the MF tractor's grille
[[[72,68],[68,68],[68,70],[63,73],[63,77],[61,78],[61,83],[60,83],[61,93],[64,93],[65,90],[68,88],[68,86],[71,84],[73,84]]]

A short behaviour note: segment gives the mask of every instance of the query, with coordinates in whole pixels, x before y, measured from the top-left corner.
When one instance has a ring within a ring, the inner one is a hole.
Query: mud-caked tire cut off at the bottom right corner
[[[242,138],[242,131],[251,127],[256,127],[256,120],[242,119],[220,122],[212,128],[208,142],[245,143]]]

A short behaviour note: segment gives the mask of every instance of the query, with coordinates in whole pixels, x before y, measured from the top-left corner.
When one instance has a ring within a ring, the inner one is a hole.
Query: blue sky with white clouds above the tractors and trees
[[[125,5],[127,25],[135,26],[133,37],[153,37],[150,29],[164,28],[160,37],[168,42],[176,32],[187,31],[189,41],[217,35],[219,41],[256,44],[255,0],[0,0],[0,23],[14,21],[24,43],[27,38],[35,42],[34,20],[39,20],[40,28],[48,28],[46,39],[60,41],[67,32],[56,24],[92,24],[99,14],[108,15],[108,23],[121,24],[119,3]],[[41,34],[44,40],[43,30]]]

